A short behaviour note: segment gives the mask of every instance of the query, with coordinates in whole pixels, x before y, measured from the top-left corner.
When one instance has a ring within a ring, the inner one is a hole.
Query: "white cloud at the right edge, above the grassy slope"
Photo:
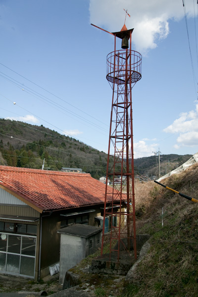
[[[198,146],[198,104],[195,111],[181,113],[180,117],[163,131],[179,133],[174,148]]]

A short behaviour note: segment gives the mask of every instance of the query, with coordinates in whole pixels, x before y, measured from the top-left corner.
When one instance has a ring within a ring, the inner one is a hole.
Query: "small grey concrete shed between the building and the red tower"
[[[101,231],[102,228],[81,224],[57,231],[60,233],[60,284],[63,284],[67,270],[101,247]]]

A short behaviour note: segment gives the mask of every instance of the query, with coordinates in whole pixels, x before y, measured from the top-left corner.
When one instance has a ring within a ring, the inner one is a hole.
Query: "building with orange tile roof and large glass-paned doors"
[[[0,272],[35,280],[48,275],[59,261],[57,230],[96,226],[104,193],[105,185],[87,173],[0,166]]]

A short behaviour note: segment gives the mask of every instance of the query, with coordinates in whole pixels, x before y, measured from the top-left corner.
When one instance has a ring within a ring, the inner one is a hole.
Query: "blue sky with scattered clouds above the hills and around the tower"
[[[184,3],[190,48],[182,0],[0,0],[0,117],[44,125],[107,152],[106,56],[114,40],[90,24],[120,31],[125,8],[133,48],[143,55],[132,98],[134,157],[158,149],[196,153],[198,4]]]

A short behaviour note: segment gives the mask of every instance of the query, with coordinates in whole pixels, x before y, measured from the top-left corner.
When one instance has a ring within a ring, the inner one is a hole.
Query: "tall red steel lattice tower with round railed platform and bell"
[[[106,30],[103,31],[110,33]],[[114,51],[107,55],[106,79],[113,94],[101,254],[105,253],[104,238],[109,237],[109,256],[111,257],[113,252],[116,254],[118,262],[120,250],[130,250],[132,245],[134,256],[137,258],[132,88],[142,77],[142,56],[139,52],[131,49],[132,32],[133,29],[127,30],[124,24],[120,32],[110,33],[114,36]],[[122,40],[122,49],[119,50],[116,49],[117,38]],[[107,180],[112,183],[112,192],[109,191]],[[106,203],[106,198],[109,195],[112,197],[110,205]]]

